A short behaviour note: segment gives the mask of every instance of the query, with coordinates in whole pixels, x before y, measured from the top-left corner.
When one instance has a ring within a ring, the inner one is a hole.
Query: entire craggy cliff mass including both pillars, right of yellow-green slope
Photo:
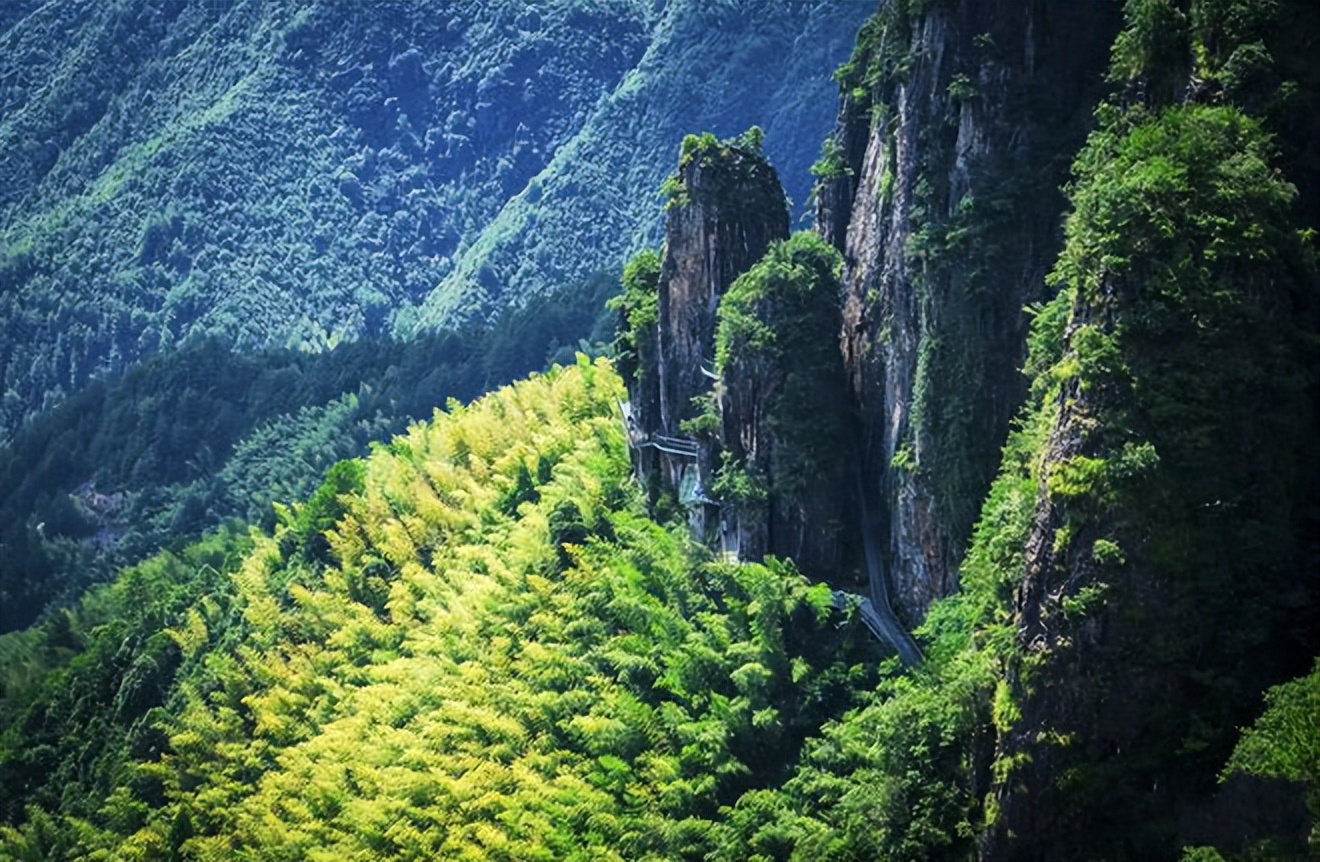
[[[639,478],[913,668],[808,743],[774,858],[1303,851],[1307,706],[1247,772],[1309,797],[1224,770],[1313,685],[1317,24],[888,4],[818,238],[770,227],[748,141],[685,144],[619,302]]]

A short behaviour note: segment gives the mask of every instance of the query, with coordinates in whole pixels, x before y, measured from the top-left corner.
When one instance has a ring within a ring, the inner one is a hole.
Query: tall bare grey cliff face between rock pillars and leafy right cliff
[[[921,618],[1024,396],[1027,314],[1117,4],[884,4],[826,143],[817,224],[843,252],[843,362],[896,605]]]

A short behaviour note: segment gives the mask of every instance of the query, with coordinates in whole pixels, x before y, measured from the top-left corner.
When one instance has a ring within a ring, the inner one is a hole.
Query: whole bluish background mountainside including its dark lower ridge
[[[0,630],[607,341],[688,131],[759,124],[803,211],[867,13],[5,4]]]

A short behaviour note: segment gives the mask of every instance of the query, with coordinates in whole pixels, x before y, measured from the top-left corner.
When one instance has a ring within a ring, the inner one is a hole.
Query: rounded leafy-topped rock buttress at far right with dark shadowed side
[[[997,792],[1024,783],[1032,801],[1015,804],[1078,824],[1104,820],[1088,812],[1102,799],[1105,818],[1151,826],[1110,853],[1168,851],[1155,800],[1209,793],[1251,714],[1241,693],[1296,673],[1313,643],[1315,587],[1296,572],[1315,379],[1295,309],[1315,275],[1270,157],[1237,110],[1187,106],[1105,115],[1076,162],[1056,271],[1071,319],[1035,408],[1053,416],[1032,455],[1048,496],[1023,500],[1035,550],[1011,580],[1026,634],[1008,679],[1026,702],[1001,735],[1006,762],[1076,780],[1045,789],[1056,778],[1014,768]],[[1074,709],[1043,705],[1065,686]],[[1140,713],[1098,701],[1105,686]],[[1123,752],[1113,768],[1106,747]],[[1055,832],[1020,809],[1007,828],[1023,822]]]

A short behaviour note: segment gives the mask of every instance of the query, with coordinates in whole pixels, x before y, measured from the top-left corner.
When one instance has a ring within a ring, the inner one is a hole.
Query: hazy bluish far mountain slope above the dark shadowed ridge
[[[833,114],[822,73],[870,12],[24,8],[0,33],[7,432],[190,334],[321,350],[411,335],[422,304],[440,325],[615,268],[656,234],[692,128],[760,123],[801,205]]]

